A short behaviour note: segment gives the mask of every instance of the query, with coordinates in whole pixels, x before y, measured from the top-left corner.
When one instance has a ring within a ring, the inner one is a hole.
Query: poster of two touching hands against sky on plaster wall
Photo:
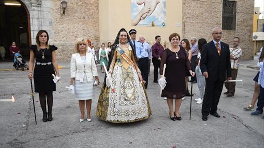
[[[165,27],[166,0],[131,0],[132,26]]]

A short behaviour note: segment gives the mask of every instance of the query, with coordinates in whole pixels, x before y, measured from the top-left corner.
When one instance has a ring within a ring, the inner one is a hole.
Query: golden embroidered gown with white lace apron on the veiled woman
[[[135,68],[121,57],[118,50],[125,51],[135,64]],[[102,86],[97,117],[112,123],[136,122],[149,118],[151,115],[149,100],[144,85],[140,83],[138,77],[140,70],[129,44],[127,49],[116,47],[109,70],[113,71],[112,85],[115,92],[111,91],[112,88]]]

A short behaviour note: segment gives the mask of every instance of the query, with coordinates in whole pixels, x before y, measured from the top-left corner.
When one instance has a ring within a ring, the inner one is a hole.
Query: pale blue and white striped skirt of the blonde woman
[[[87,82],[86,77],[84,77],[83,82],[75,80],[74,83],[76,100],[90,100],[94,98],[93,81]]]

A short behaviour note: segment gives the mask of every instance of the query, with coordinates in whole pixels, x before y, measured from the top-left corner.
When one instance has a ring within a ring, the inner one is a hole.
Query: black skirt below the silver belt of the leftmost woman
[[[34,69],[34,85],[35,92],[50,92],[56,90],[56,85],[53,82],[55,71],[53,65],[35,65]]]

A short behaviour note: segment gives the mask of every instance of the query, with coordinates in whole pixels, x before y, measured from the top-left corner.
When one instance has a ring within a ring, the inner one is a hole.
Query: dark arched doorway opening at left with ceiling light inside
[[[20,5],[19,5],[20,4]],[[2,0],[0,2],[0,61],[12,61],[13,55],[9,48],[12,42],[20,48],[25,59],[29,59],[29,45],[31,45],[29,11],[19,0]],[[4,56],[4,59],[2,58]]]

